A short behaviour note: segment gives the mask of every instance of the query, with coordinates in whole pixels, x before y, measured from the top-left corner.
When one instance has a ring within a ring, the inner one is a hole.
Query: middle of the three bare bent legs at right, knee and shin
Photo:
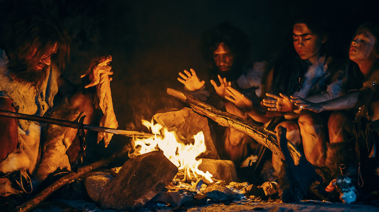
[[[301,115],[298,122],[305,157],[314,166],[324,166],[326,136],[323,119],[318,114],[309,113]]]

